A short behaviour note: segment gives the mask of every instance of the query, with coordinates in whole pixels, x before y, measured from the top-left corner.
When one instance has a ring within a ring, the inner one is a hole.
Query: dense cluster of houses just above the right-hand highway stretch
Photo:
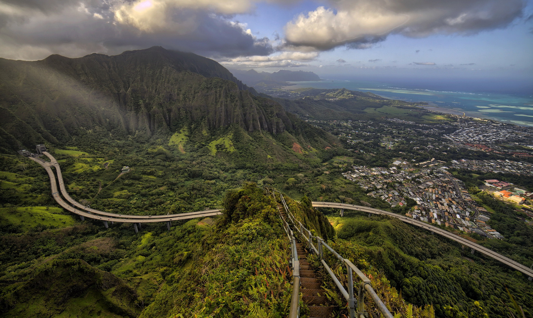
[[[392,207],[407,205],[407,198],[414,200],[415,206],[406,215],[419,221],[489,238],[503,238],[487,225],[489,217],[482,214],[487,210],[471,198],[464,183],[454,178],[445,166],[415,169],[397,160],[388,168],[352,166],[352,170],[343,175],[357,182],[368,195]]]

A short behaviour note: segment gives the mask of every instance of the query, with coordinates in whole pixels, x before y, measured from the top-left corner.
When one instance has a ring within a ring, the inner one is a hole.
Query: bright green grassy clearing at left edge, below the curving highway
[[[21,231],[28,231],[32,227],[44,225],[49,227],[67,227],[76,224],[70,215],[62,215],[63,209],[55,207],[12,207],[0,208],[0,217]]]

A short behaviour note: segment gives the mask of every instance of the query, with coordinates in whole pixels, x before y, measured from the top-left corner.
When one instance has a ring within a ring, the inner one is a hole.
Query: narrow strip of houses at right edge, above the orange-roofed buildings
[[[472,171],[533,175],[533,164],[511,160],[452,160],[453,166]]]

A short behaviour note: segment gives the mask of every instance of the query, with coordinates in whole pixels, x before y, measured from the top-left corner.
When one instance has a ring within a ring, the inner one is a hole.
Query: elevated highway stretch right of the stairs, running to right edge
[[[487,255],[487,256],[492,257],[492,258],[494,258],[496,260],[499,260],[500,262],[504,263],[505,265],[507,265],[509,267],[512,267],[515,270],[528,275],[528,277],[530,279],[533,278],[533,270],[531,268],[529,268],[527,266],[524,266],[524,265],[522,265],[522,264],[520,264],[518,262],[515,262],[514,260],[512,260],[512,259],[510,259],[508,257],[505,257],[505,256],[503,256],[503,255],[501,255],[501,254],[499,254],[499,253],[497,253],[495,251],[492,251],[492,250],[490,250],[490,249],[488,249],[486,247],[483,247],[483,246],[481,246],[479,244],[471,242],[471,241],[469,241],[469,240],[467,240],[465,238],[459,237],[458,235],[455,235],[455,234],[450,233],[450,232],[445,231],[445,230],[441,230],[438,227],[429,225],[427,223],[424,223],[424,222],[421,222],[421,221],[417,221],[416,219],[412,219],[412,218],[407,217],[407,216],[395,214],[395,213],[392,213],[392,212],[389,212],[389,211],[372,209],[372,208],[367,208],[367,207],[363,207],[363,206],[350,205],[350,204],[346,204],[346,203],[317,202],[317,201],[313,201],[311,203],[312,203],[313,207],[357,210],[357,211],[373,213],[373,214],[384,214],[384,215],[392,216],[392,217],[395,217],[395,218],[399,218],[401,221],[403,221],[405,223],[413,224],[413,225],[422,227],[422,229],[429,230],[429,231],[432,231],[432,232],[435,232],[435,233],[439,233],[443,237],[446,237],[448,239],[454,240],[454,241],[459,242],[459,243],[461,243],[461,244],[463,244],[463,245],[465,245],[467,247],[470,247],[470,248],[472,248],[474,250],[477,250],[483,255]]]

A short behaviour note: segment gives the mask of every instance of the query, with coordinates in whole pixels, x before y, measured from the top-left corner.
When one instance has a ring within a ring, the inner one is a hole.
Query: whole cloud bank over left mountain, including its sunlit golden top
[[[256,38],[230,19],[251,10],[251,0],[0,1],[0,52],[9,59],[117,54],[154,45],[214,58],[274,52],[268,38]]]

